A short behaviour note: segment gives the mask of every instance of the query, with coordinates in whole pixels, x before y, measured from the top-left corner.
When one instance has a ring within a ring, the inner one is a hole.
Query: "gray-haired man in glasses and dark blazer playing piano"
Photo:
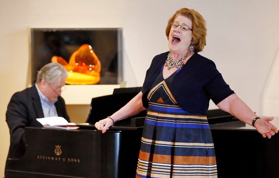
[[[67,77],[68,73],[62,65],[49,63],[38,71],[35,85],[11,97],[6,112],[10,130],[7,158],[20,158],[24,154],[24,127],[42,127],[37,118],[60,116],[70,122],[64,99],[60,96]]]

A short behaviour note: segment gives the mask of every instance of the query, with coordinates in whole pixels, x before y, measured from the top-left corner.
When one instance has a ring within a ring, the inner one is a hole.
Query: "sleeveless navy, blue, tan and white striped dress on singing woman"
[[[183,110],[162,70],[148,93],[148,113],[141,139],[136,177],[217,177],[211,131],[205,115]]]

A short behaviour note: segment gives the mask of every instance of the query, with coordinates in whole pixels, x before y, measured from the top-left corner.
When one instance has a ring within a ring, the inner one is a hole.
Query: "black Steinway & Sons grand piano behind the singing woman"
[[[115,89],[112,95],[92,98],[86,123],[77,130],[26,127],[26,152],[7,159],[6,178],[135,177],[146,111],[116,122],[105,134],[94,124],[140,89]],[[208,110],[207,117],[218,177],[279,177],[278,134],[262,138],[255,128],[220,109]]]

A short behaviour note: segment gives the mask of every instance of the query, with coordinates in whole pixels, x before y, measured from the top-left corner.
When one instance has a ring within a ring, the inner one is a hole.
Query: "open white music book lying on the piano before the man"
[[[47,118],[37,118],[44,127],[61,128],[63,129],[77,129],[77,124],[68,122],[62,117],[47,117]]]

